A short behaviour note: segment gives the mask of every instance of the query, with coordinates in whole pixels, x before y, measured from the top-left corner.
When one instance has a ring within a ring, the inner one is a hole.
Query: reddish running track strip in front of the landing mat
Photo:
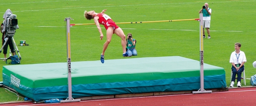
[[[256,87],[224,92],[82,100],[69,103],[11,103],[3,106],[255,106]]]

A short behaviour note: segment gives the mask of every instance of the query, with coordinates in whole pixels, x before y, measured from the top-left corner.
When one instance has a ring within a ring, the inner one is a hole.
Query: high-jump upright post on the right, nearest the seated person
[[[212,93],[212,91],[204,90],[204,43],[203,43],[203,14],[200,13],[200,89],[198,91],[193,91],[196,93]]]

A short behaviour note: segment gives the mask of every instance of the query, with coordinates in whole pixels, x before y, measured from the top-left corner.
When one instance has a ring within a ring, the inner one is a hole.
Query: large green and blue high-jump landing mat
[[[152,88],[149,91],[144,88],[143,90],[136,89],[140,93],[195,90],[200,88],[200,62],[180,56],[113,59],[105,60],[104,64],[100,61],[72,62],[71,59],[71,74],[73,89],[75,89],[73,92],[78,91],[76,93],[78,96],[76,97],[136,92],[125,92],[128,91],[127,89],[119,89],[119,92],[113,90],[125,87],[128,89],[133,87],[131,89],[134,89],[134,87],[163,86],[169,84],[169,86],[175,88],[175,86],[188,86],[190,84],[188,87],[176,87],[176,89],[169,89],[167,86],[164,86],[163,89],[156,87],[159,90]],[[205,88],[226,87],[224,68],[204,64],[204,76]],[[171,81],[174,79],[175,81]],[[156,81],[162,81],[163,84],[156,83]],[[191,86],[191,84],[195,86]],[[3,66],[3,85],[10,86],[12,89],[20,91],[21,94],[30,96],[34,100],[39,100],[38,98],[42,96],[38,95],[40,93],[65,91],[65,95],[67,95],[67,63]],[[66,87],[65,89],[61,88],[61,91],[58,89],[58,86]],[[52,89],[53,87],[55,88]],[[40,90],[38,91],[38,89]],[[85,89],[93,91],[87,91]],[[96,89],[99,90],[96,91]],[[104,91],[101,89],[104,89]],[[111,90],[108,91],[108,89],[112,89],[113,92]],[[29,95],[26,95],[26,93]],[[86,93],[90,93],[91,95],[83,95]],[[49,94],[47,95],[50,96]],[[63,98],[60,93],[58,95],[57,97]],[[42,100],[41,97],[40,100]]]

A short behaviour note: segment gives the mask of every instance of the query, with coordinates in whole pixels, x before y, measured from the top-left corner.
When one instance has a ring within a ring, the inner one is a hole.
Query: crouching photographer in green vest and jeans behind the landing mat
[[[129,54],[128,56],[137,56],[137,50],[135,49],[136,42],[136,39],[132,38],[132,34],[128,33],[126,39],[126,51]]]

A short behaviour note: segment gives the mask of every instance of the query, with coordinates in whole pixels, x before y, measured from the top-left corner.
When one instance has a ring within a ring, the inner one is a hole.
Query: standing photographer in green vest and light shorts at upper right
[[[203,8],[199,11],[199,14],[203,13],[203,38],[205,38],[205,34],[204,34],[204,28],[206,28],[207,33],[208,33],[208,39],[211,38],[210,36],[210,23],[211,23],[211,14],[212,14],[212,9],[209,8],[208,3],[204,3]]]

